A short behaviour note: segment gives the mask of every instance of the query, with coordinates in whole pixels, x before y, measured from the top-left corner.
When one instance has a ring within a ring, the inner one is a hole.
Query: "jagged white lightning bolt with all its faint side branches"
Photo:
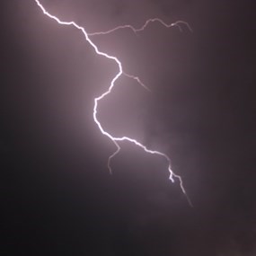
[[[127,73],[125,73],[123,71],[123,67],[122,67],[122,64],[121,62],[119,61],[119,58],[118,57],[115,57],[115,56],[111,56],[111,55],[108,55],[107,53],[105,52],[102,52],[98,49],[98,47],[93,43],[93,41],[89,38],[89,36],[93,36],[93,35],[104,35],[104,34],[108,34],[110,32],[113,32],[113,31],[117,31],[119,29],[125,29],[125,28],[129,28],[131,29],[132,31],[134,32],[139,32],[139,31],[143,31],[146,29],[146,26],[150,23],[150,22],[160,22],[163,24],[163,26],[165,26],[166,28],[170,28],[172,26],[178,26],[178,28],[181,30],[181,26],[180,24],[181,23],[184,23],[188,26],[188,28],[190,29],[190,26],[187,22],[182,22],[182,21],[179,21],[179,22],[175,22],[175,23],[172,23],[170,25],[164,23],[162,20],[158,19],[158,18],[155,18],[155,19],[150,19],[150,20],[147,20],[145,22],[145,24],[139,28],[139,29],[135,29],[134,27],[130,26],[130,25],[125,25],[125,26],[119,26],[119,27],[116,27],[115,29],[113,30],[110,30],[110,31],[106,31],[106,32],[97,32],[97,33],[87,33],[85,30],[84,30],[84,27],[81,27],[79,25],[77,25],[75,22],[63,22],[63,21],[60,21],[56,16],[50,14],[48,11],[46,11],[46,9],[44,8],[44,6],[42,4],[40,4],[40,1],[39,0],[34,0],[36,2],[36,4],[38,4],[38,6],[40,7],[40,10],[45,14],[47,15],[50,19],[53,19],[55,20],[57,23],[61,24],[61,25],[68,25],[68,26],[74,26],[77,30],[79,31],[82,31],[83,34],[84,34],[84,38],[85,40],[93,47],[94,51],[96,52],[96,54],[100,55],[100,56],[103,56],[103,57],[106,57],[112,61],[114,61],[118,66],[119,66],[119,72],[117,75],[114,76],[114,78],[112,79],[111,83],[110,83],[110,87],[108,88],[108,90],[105,92],[105,93],[102,93],[102,95],[100,95],[99,97],[95,98],[94,99],[94,107],[93,107],[93,119],[94,119],[94,122],[97,124],[98,128],[101,130],[102,134],[106,137],[109,137],[110,140],[113,142],[113,144],[117,147],[117,150],[110,155],[109,157],[109,160],[108,160],[108,167],[109,167],[109,170],[110,170],[110,173],[112,172],[111,170],[111,166],[110,166],[110,162],[111,162],[111,159],[119,153],[120,151],[120,146],[119,146],[119,141],[129,141],[133,144],[135,144],[136,146],[139,146],[140,148],[142,148],[146,153],[149,153],[149,154],[158,154],[158,155],[161,155],[163,156],[167,163],[168,163],[168,171],[170,172],[170,180],[172,182],[174,182],[174,178],[178,179],[179,182],[180,182],[180,187],[181,187],[181,190],[182,192],[184,193],[184,195],[186,196],[186,198],[188,199],[188,202],[190,203],[190,206],[192,206],[191,204],[191,201],[190,201],[190,198],[188,197],[187,193],[186,193],[186,190],[184,189],[184,186],[183,186],[183,182],[182,182],[182,179],[181,179],[181,176],[179,176],[178,174],[175,174],[174,172],[172,172],[172,168],[171,168],[171,159],[168,157],[168,155],[166,154],[163,154],[159,151],[155,151],[155,150],[150,150],[148,148],[146,148],[146,146],[142,145],[141,143],[139,143],[136,139],[134,138],[130,138],[130,137],[113,137],[110,135],[110,133],[108,133],[107,131],[105,131],[103,128],[102,128],[102,124],[101,122],[97,119],[97,110],[98,110],[98,103],[104,98],[106,97],[108,94],[111,93],[114,85],[115,85],[115,82],[119,79],[119,77],[121,75],[126,75],[128,76],[129,78],[132,78],[134,80],[137,81],[138,84],[140,84],[141,86],[143,86],[144,88],[146,88],[146,90],[150,91],[145,84],[143,84],[140,79],[135,76],[135,75],[128,75]],[[191,31],[191,29],[190,29]]]

